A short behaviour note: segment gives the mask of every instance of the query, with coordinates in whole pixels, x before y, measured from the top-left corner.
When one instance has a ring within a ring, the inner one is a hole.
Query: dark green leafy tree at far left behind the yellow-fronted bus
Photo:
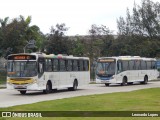
[[[23,16],[14,18],[8,23],[9,18],[0,19],[0,56],[6,57],[10,53],[22,53],[28,41],[34,39],[38,49],[39,43],[43,40],[43,34],[38,26],[30,26],[31,16],[26,19]]]

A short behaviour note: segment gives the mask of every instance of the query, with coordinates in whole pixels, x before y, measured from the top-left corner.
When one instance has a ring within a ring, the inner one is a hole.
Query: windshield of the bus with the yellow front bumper
[[[8,77],[33,77],[37,75],[36,61],[9,61]]]

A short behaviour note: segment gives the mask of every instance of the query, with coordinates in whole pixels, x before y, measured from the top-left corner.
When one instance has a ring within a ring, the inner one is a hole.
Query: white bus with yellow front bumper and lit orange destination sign
[[[89,69],[88,57],[12,54],[8,56],[7,89],[18,90],[21,94],[34,90],[49,93],[60,88],[76,90],[89,83]]]

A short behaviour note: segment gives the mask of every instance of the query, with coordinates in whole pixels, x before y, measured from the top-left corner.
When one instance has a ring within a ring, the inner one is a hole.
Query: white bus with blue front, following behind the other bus
[[[156,59],[140,56],[101,57],[97,60],[96,83],[121,85],[157,79]]]

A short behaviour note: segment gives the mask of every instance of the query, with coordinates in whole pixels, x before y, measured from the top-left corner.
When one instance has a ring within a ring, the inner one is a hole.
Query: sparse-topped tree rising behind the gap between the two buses
[[[108,56],[109,48],[113,41],[112,31],[105,25],[92,25],[89,30],[90,33],[90,48],[89,56],[91,60],[99,56]]]

